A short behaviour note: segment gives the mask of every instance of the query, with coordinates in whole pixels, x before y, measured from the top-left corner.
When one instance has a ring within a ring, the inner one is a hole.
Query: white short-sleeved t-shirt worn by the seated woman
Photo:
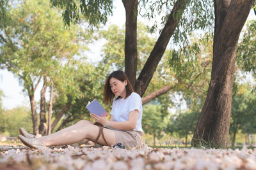
[[[136,127],[133,130],[143,132],[141,127],[141,119],[142,119],[141,97],[136,92],[132,92],[132,94],[126,99],[124,98],[119,98],[117,100],[114,99],[110,114],[113,115],[113,121],[123,122],[128,120],[129,112],[134,110],[139,111],[139,117],[136,123]]]

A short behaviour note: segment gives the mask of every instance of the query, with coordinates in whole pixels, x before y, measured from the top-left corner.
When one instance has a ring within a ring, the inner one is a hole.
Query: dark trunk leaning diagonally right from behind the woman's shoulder
[[[166,46],[170,41],[170,38],[175,31],[180,18],[175,15],[175,12],[179,10],[180,16],[184,12],[186,8],[186,1],[178,0],[173,6],[172,12],[170,13],[166,24],[164,25],[163,31],[161,32],[159,38],[157,39],[156,45],[154,46],[152,52],[150,53],[147,62],[145,63],[143,69],[141,70],[140,76],[136,81],[135,91],[143,96],[145,93],[150,80],[154,72],[156,71],[156,67],[159,64],[159,61],[163,57],[164,51],[166,50]],[[125,67],[126,69],[126,67]]]

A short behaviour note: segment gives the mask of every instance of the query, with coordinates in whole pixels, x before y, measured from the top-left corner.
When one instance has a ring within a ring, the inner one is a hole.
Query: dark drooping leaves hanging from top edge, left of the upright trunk
[[[63,9],[63,20],[68,26],[79,22],[81,15],[90,25],[106,24],[113,11],[112,0],[51,0],[51,3]]]

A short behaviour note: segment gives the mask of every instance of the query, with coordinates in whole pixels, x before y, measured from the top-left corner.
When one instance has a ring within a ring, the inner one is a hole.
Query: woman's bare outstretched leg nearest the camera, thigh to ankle
[[[116,143],[115,132],[110,129],[103,129],[104,137],[109,145]],[[43,136],[38,138],[40,143],[46,146],[56,146],[56,145],[70,145],[72,143],[77,143],[83,141],[84,139],[89,139],[95,141],[99,134],[99,127],[93,125],[92,122],[88,120],[81,120],[76,124],[62,129],[61,131],[55,132],[48,136]],[[97,141],[100,145],[106,145],[102,136],[100,136]]]

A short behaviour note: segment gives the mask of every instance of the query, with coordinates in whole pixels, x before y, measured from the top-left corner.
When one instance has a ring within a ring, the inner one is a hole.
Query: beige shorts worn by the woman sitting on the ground
[[[141,145],[141,136],[143,135],[143,132],[140,131],[122,131],[119,129],[113,129],[106,127],[108,129],[111,129],[115,132],[116,136],[116,142],[122,143],[122,145],[125,146],[125,149],[129,148],[136,148]]]

